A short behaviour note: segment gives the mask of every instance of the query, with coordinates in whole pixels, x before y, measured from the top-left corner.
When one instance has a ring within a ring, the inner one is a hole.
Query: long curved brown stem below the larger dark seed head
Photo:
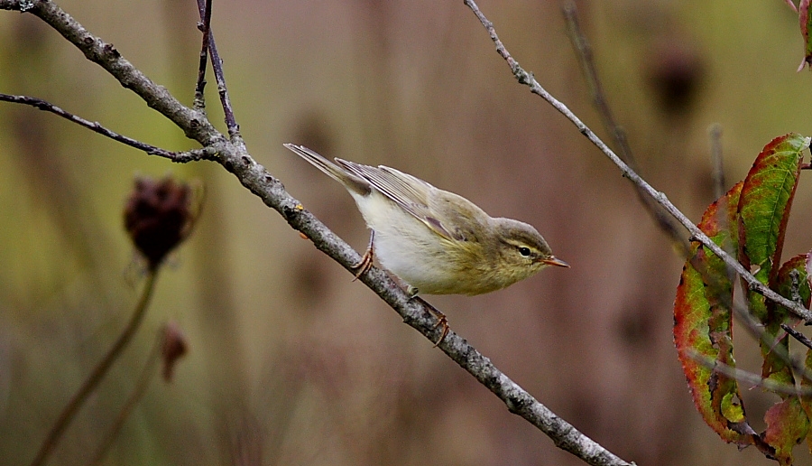
[[[90,373],[82,386],[79,387],[76,394],[70,399],[68,405],[66,405],[62,410],[62,413],[60,414],[59,418],[57,418],[56,423],[54,423],[51,427],[51,431],[48,433],[48,436],[45,437],[45,441],[42,442],[40,451],[31,462],[32,466],[40,466],[45,464],[45,461],[48,461],[48,457],[51,455],[51,452],[53,452],[53,449],[56,448],[57,443],[59,443],[62,433],[65,432],[65,429],[68,428],[70,422],[73,421],[74,417],[78,413],[78,409],[88,400],[88,396],[90,396],[96,387],[98,387],[98,384],[106,376],[107,371],[113,366],[115,359],[118,359],[122,351],[124,351],[124,349],[127,347],[127,344],[129,344],[130,340],[133,339],[135,331],[137,331],[141,326],[143,316],[147,310],[147,305],[150,303],[152,291],[155,288],[155,277],[157,275],[158,269],[148,269],[146,281],[143,284],[141,298],[138,300],[138,303],[135,304],[135,309],[133,316],[130,317],[130,322],[127,323],[125,330],[122,331],[121,335],[118,336],[118,339],[115,340],[113,347],[107,351],[105,357],[99,361],[96,368],[93,369],[93,372]]]

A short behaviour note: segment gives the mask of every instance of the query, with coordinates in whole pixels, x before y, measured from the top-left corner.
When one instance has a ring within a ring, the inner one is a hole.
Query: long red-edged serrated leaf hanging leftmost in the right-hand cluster
[[[699,229],[726,250],[735,251],[736,210],[743,183],[711,204]],[[698,242],[682,270],[674,302],[674,341],[697,411],[726,442],[754,443],[738,385],[731,377],[706,368],[705,358],[735,367],[733,357],[733,282],[727,266]]]

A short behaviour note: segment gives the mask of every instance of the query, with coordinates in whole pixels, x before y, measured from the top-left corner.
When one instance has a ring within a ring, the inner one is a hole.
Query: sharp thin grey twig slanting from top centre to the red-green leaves
[[[516,80],[519,81],[520,84],[528,86],[531,89],[533,94],[538,95],[540,98],[546,100],[552,107],[558,110],[559,113],[566,116],[569,121],[571,121],[577,128],[578,131],[585,135],[586,138],[595,146],[603,152],[623,173],[623,176],[632,180],[633,183],[641,186],[643,191],[645,191],[652,199],[657,200],[657,202],[665,208],[675,219],[685,227],[691,235],[692,240],[699,241],[705,247],[710,249],[716,256],[719,256],[724,260],[724,262],[733,267],[737,274],[742,275],[744,281],[748,284],[751,290],[763,294],[767,299],[774,303],[778,303],[789,311],[795,313],[803,319],[805,322],[812,324],[812,312],[808,309],[805,309],[803,306],[798,305],[798,303],[793,303],[789,299],[781,296],[780,294],[770,290],[770,288],[762,284],[756,277],[754,277],[747,269],[744,268],[733,256],[730,256],[722,247],[716,245],[710,238],[707,237],[705,233],[702,232],[697,226],[686,217],[681,210],[678,210],[677,207],[671,203],[665,193],[655,190],[651,187],[651,184],[643,180],[640,175],[634,172],[629,165],[624,163],[617,154],[614,154],[612,149],[609,148],[608,145],[604,143],[601,138],[599,138],[595,133],[589,129],[588,126],[581,121],[572,111],[563,103],[561,103],[557,98],[552,97],[551,94],[547,90],[541,87],[539,81],[533,78],[531,73],[523,70],[519,63],[513,59],[511,54],[505,49],[502,41],[499,40],[499,36],[496,34],[494,30],[494,23],[488,21],[488,19],[484,16],[484,14],[479,10],[479,7],[476,6],[473,0],[465,0],[465,4],[471,8],[474,12],[476,17],[479,19],[480,23],[483,24],[484,28],[487,30],[489,35],[491,36],[491,40],[496,45],[496,51],[499,55],[507,61],[508,66],[510,66],[513,76]]]

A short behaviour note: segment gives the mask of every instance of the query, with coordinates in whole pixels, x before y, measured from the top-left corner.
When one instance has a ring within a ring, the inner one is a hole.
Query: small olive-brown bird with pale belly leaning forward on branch
[[[344,185],[372,230],[364,257],[353,267],[356,277],[377,256],[412,297],[474,295],[502,289],[546,266],[568,267],[527,223],[493,218],[462,196],[387,166],[339,158],[333,163],[302,145],[284,146]],[[444,325],[439,343],[448,323],[434,311]]]

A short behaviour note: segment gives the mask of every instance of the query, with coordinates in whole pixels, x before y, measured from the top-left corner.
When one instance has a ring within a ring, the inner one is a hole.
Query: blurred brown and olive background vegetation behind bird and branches
[[[193,2],[60,5],[191,104]],[[713,200],[709,126],[724,128],[728,186],[773,137],[812,133],[798,17],[780,0],[577,5],[642,174],[692,219]],[[521,65],[605,135],[559,2],[480,6]],[[533,396],[641,465],[770,462],[721,443],[693,408],[672,342],[682,260],[669,240],[614,166],[516,84],[462,2],[233,0],[215,2],[213,18],[249,150],[357,249],[367,232],[351,198],[282,143],[385,163],[528,221],[572,266],[494,294],[429,298]],[[34,16],[0,13],[0,43],[0,91],[194,147]],[[208,80],[209,115],[225,131]],[[152,382],[106,464],[580,464],[220,166],[172,165],[11,104],[0,104],[0,163],[0,463],[31,461],[124,326],[143,276],[124,201],[134,174],[171,172],[206,184],[198,226],[52,464],[87,463],[170,321],[189,355],[171,383]],[[787,257],[812,246],[806,178]],[[758,371],[755,345],[739,341],[740,363]],[[756,419],[775,401],[745,398]]]

